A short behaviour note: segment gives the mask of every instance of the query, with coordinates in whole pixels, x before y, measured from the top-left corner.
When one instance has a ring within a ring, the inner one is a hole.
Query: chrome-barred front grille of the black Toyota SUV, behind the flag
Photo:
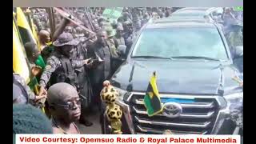
[[[160,94],[161,95],[161,94]],[[181,98],[174,95],[172,98]],[[149,117],[143,103],[144,94],[132,94],[130,110],[137,134],[162,134],[171,130],[174,134],[210,134],[218,115],[218,102],[213,97],[193,97],[194,102],[180,103],[182,114],[178,118],[167,118],[162,114]],[[166,98],[161,95],[161,98]]]

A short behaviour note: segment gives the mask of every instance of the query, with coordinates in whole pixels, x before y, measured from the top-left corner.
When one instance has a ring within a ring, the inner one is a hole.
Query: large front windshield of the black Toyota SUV
[[[138,38],[131,57],[205,57],[227,60],[225,46],[216,28],[146,29]]]

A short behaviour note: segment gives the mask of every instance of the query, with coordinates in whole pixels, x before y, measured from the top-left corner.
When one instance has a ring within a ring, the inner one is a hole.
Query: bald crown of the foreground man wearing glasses
[[[60,82],[50,86],[48,90],[49,104],[65,102],[70,98],[78,98],[78,92],[68,83]]]

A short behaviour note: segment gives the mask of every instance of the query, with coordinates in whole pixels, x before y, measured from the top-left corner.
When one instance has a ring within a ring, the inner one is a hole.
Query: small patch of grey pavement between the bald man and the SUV
[[[102,134],[101,126],[99,124],[99,112],[88,115],[88,119],[90,122],[93,122],[93,126],[83,126],[81,124],[77,124],[80,132],[82,134]]]

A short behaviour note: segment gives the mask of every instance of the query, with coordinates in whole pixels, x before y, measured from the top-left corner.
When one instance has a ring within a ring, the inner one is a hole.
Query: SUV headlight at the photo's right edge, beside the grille
[[[237,126],[243,128],[243,93],[226,95],[224,98],[230,112],[230,118]]]

